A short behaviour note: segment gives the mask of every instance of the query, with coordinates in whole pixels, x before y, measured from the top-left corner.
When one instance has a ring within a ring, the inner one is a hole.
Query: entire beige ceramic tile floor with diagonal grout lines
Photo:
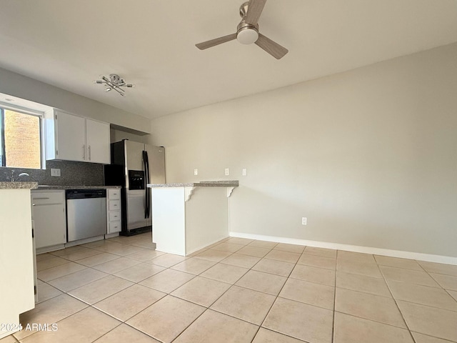
[[[151,234],[37,257],[10,342],[457,342],[457,266],[228,238],[180,257]]]

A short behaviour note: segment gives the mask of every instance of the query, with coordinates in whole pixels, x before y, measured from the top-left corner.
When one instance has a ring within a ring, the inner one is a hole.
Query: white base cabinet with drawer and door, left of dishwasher
[[[64,190],[32,191],[31,216],[37,252],[59,249],[66,243]]]

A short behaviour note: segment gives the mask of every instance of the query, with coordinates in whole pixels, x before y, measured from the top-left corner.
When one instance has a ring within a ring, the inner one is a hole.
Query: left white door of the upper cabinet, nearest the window
[[[85,161],[86,119],[56,111],[56,159]]]

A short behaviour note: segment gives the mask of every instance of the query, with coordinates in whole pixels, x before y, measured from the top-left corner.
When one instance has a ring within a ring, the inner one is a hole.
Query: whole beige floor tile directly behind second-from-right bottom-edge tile
[[[335,311],[406,329],[395,301],[386,297],[337,288]]]

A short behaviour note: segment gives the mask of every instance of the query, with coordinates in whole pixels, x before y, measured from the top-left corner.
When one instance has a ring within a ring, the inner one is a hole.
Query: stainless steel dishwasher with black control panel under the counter
[[[68,242],[106,234],[106,189],[66,191]]]

